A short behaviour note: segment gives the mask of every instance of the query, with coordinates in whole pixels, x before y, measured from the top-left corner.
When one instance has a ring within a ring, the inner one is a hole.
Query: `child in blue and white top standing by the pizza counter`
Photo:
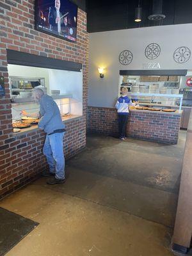
[[[115,108],[118,113],[118,130],[120,140],[125,140],[127,121],[129,115],[129,106],[135,106],[131,99],[127,96],[128,90],[126,87],[121,89],[122,96],[118,98]]]

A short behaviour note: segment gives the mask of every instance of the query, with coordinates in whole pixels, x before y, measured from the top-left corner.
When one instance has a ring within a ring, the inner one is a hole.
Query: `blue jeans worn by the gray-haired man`
[[[65,157],[63,153],[63,136],[65,132],[47,135],[44,144],[44,155],[49,164],[49,171],[55,173],[56,179],[65,179]]]

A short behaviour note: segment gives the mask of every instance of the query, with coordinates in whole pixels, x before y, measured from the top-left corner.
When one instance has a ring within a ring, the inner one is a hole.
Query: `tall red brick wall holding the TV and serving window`
[[[83,65],[83,116],[66,122],[65,154],[74,156],[86,143],[88,33],[86,13],[78,8],[77,42],[67,42],[35,30],[35,0],[0,1],[0,76],[5,78],[0,97],[0,196],[29,182],[47,168],[42,154],[45,134],[41,131],[13,135],[6,49],[28,52]]]

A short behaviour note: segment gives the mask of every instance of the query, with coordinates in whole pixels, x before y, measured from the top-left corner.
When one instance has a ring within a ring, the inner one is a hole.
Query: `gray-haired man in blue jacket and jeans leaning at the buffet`
[[[33,98],[40,104],[40,122],[38,128],[45,131],[46,138],[43,152],[49,164],[49,172],[42,175],[53,175],[47,184],[61,184],[65,182],[65,157],[63,154],[63,136],[65,125],[61,120],[60,109],[51,96],[44,93],[44,90],[35,88]]]

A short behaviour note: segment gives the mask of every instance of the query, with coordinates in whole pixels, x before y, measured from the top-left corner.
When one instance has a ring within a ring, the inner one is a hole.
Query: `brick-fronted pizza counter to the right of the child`
[[[182,111],[152,111],[132,108],[129,111],[127,136],[157,143],[177,144]]]

